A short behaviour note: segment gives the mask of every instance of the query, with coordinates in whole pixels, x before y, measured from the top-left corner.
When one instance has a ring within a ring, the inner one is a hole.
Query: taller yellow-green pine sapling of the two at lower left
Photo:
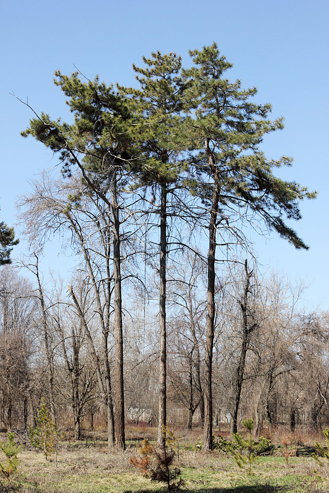
[[[63,434],[52,421],[43,397],[37,410],[36,423],[37,426],[35,428],[28,425],[31,444],[37,449],[43,450],[46,460],[48,456],[55,452],[57,467],[57,439]]]

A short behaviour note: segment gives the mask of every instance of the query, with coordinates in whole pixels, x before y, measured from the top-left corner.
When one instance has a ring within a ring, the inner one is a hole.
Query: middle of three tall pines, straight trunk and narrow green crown
[[[169,194],[177,189],[179,176],[186,163],[183,159],[186,149],[182,116],[185,107],[186,82],[181,75],[181,57],[175,53],[162,55],[151,53],[143,57],[144,68],[133,65],[141,88],[131,89],[136,104],[136,113],[145,121],[135,131],[135,138],[141,142],[142,159],[135,171],[138,173],[136,187],[151,187],[160,194],[160,265],[159,265],[159,416],[158,443],[165,448],[166,427],[166,262],[167,223]],[[155,197],[154,197],[155,200]]]

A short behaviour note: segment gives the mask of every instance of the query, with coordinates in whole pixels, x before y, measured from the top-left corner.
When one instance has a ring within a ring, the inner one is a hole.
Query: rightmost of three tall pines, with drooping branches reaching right
[[[264,135],[283,128],[283,119],[271,121],[269,104],[251,102],[256,87],[244,90],[240,80],[229,82],[224,78],[224,72],[232,65],[219,55],[216,43],[201,51],[191,51],[190,56],[195,67],[184,71],[186,80],[192,81],[189,97],[195,101],[191,112],[195,129],[191,162],[195,177],[190,187],[209,211],[203,437],[203,449],[209,450],[212,447],[215,264],[219,231],[223,245],[229,243],[225,232],[234,236],[235,243],[246,244],[241,218],[258,219],[296,248],[307,249],[285,219],[300,219],[298,202],[305,197],[314,198],[315,194],[273,174],[276,168],[291,165],[291,158],[269,160],[259,149]]]

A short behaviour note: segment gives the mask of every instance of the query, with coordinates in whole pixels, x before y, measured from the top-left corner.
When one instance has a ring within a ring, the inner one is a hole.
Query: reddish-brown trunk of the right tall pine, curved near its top
[[[209,252],[208,252],[208,292],[207,292],[207,331],[205,354],[205,382],[204,382],[204,426],[203,426],[203,450],[212,449],[213,436],[213,397],[212,397],[212,365],[214,348],[214,324],[215,324],[215,254],[216,254],[216,225],[219,205],[219,185],[217,179],[214,156],[209,148],[209,139],[205,141],[205,150],[208,155],[209,165],[215,179],[212,208],[209,224]]]

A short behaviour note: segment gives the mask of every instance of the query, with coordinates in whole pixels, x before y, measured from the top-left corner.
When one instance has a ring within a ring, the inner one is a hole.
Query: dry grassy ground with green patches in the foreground
[[[0,493],[165,492],[165,484],[143,477],[129,463],[129,458],[136,454],[137,439],[151,440],[156,433],[153,431],[128,430],[125,452],[109,450],[101,435],[89,436],[83,442],[66,439],[59,448],[57,468],[54,457],[45,460],[41,452],[32,450],[26,443],[19,453],[19,473],[12,484],[2,480]],[[277,457],[259,457],[250,475],[238,469],[232,458],[216,450],[211,453],[193,450],[191,444],[199,438],[197,434],[195,430],[188,436],[182,433],[183,448],[178,464],[182,471],[179,486],[182,493],[329,493],[329,482],[314,474],[314,469],[320,471],[311,457],[291,457],[289,464],[280,457],[280,452]],[[291,448],[296,446],[292,438],[290,441]],[[297,441],[301,438],[297,437]],[[309,442],[314,443],[313,436]],[[305,437],[303,444],[306,445]]]

